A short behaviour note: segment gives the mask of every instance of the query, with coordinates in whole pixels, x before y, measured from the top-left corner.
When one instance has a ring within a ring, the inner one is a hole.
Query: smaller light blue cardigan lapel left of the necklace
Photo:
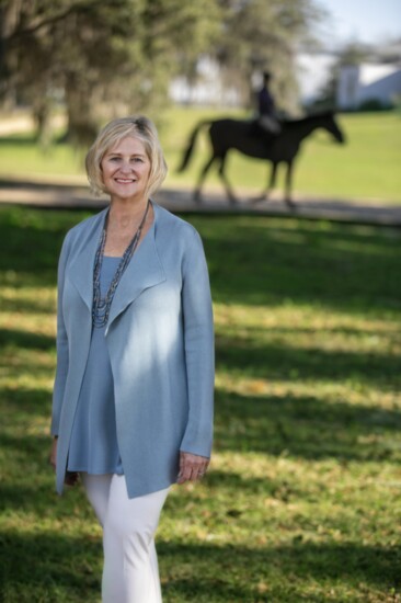
[[[98,214],[91,225],[91,228],[88,232],[85,232],[82,240],[78,238],[76,244],[80,246],[80,249],[78,249],[75,254],[75,259],[72,260],[71,266],[68,271],[69,280],[77,288],[90,311],[92,311],[93,299],[94,257],[96,254],[106,212],[107,209],[104,209]]]

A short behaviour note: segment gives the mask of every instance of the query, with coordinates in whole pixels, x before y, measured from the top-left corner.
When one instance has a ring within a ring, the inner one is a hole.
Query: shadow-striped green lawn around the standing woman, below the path
[[[47,463],[56,261],[82,217],[0,211],[5,603],[99,601],[100,528]],[[400,231],[190,219],[215,299],[216,439],[205,481],[162,514],[164,601],[400,602]]]

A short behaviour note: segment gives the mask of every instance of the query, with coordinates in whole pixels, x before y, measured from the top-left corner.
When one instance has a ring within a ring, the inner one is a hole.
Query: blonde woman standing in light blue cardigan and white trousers
[[[153,535],[172,483],[211,448],[214,338],[200,238],[150,201],[167,173],[152,123],[115,120],[87,156],[110,207],[72,228],[58,271],[50,460],[103,526],[103,601],[161,601]]]

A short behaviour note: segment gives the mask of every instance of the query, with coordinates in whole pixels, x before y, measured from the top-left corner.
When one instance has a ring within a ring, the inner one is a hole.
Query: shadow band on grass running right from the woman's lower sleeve
[[[217,392],[217,451],[307,459],[401,460],[401,412],[311,397]]]

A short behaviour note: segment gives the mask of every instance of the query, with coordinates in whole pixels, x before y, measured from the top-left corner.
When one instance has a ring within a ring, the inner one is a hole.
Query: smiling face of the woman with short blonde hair
[[[149,182],[150,160],[141,140],[127,136],[104,155],[103,183],[113,198],[141,201]]]

